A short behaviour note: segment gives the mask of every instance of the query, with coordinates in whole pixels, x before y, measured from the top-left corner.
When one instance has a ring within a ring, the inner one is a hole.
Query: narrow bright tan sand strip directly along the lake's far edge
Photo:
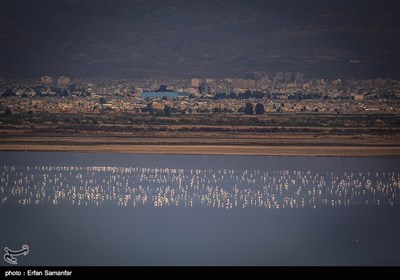
[[[55,139],[56,140],[56,139]],[[200,142],[200,141],[199,141]],[[316,140],[317,142],[317,140]],[[313,145],[134,145],[95,144],[82,145],[73,141],[62,145],[44,142],[2,143],[2,151],[44,152],[112,152],[135,154],[182,154],[182,155],[259,155],[259,156],[324,156],[324,157],[399,157],[400,145],[393,146],[319,146]]]

